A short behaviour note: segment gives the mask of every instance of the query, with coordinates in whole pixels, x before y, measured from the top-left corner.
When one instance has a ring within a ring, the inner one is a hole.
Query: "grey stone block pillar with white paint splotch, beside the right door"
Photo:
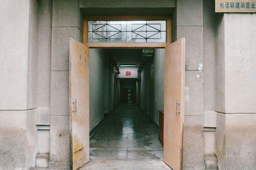
[[[203,0],[179,0],[172,15],[172,41],[186,38],[184,169],[204,169]]]

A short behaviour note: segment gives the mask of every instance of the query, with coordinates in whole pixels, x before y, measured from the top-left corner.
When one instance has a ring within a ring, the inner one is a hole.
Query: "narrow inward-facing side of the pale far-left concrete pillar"
[[[29,2],[28,110],[26,122],[26,168],[35,167],[37,144],[36,111],[38,86],[38,1]]]

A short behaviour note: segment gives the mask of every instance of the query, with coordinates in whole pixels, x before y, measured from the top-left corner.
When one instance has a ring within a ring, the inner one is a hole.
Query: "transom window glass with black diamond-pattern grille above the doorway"
[[[88,20],[88,42],[166,42],[166,20]]]

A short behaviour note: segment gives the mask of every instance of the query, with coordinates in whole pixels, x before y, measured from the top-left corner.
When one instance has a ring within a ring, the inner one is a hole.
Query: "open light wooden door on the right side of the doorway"
[[[164,61],[164,162],[182,169],[184,133],[185,38],[165,48]]]

